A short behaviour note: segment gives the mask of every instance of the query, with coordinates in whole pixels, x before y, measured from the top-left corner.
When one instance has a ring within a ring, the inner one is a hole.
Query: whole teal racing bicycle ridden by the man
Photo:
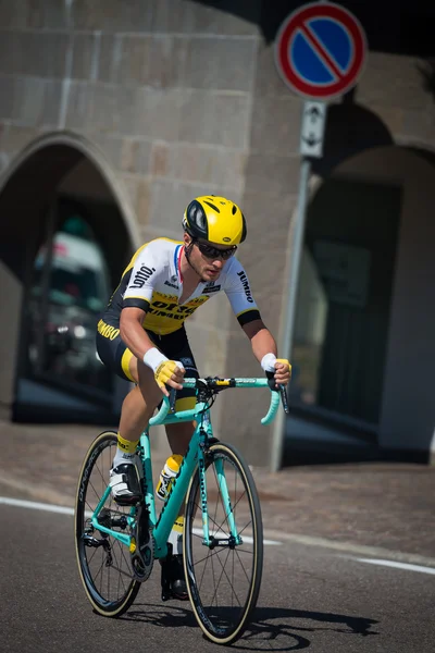
[[[269,373],[269,380],[273,374]],[[142,500],[134,507],[112,500],[108,484],[116,433],[104,431],[90,445],[78,479],[75,544],[80,578],[95,611],[109,617],[125,613],[152,570],[171,555],[167,538],[185,502],[183,557],[188,597],[208,639],[228,644],[245,630],[256,607],[263,565],[260,502],[241,455],[213,436],[210,408],[228,387],[265,387],[262,379],[185,379],[195,387],[194,409],[175,412],[175,393],[163,397],[149,427],[196,421],[178,475],[157,515],[149,429],[139,440],[137,465]],[[263,424],[276,415],[285,389],[271,392]],[[197,518],[199,516],[199,518]],[[167,583],[162,566],[162,599]],[[240,589],[235,589],[234,583]]]

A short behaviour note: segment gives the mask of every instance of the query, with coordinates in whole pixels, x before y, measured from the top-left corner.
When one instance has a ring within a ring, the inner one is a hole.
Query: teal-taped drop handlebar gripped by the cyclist
[[[198,387],[198,384],[203,384],[210,389],[224,390],[225,387],[269,387],[268,379],[184,379],[184,387]],[[279,386],[279,392],[271,391],[271,403],[266,415],[261,418],[261,423],[270,424],[276,416],[279,399],[283,402],[283,407],[288,412],[287,398],[285,386]],[[170,397],[163,396],[162,405],[159,412],[150,419],[150,426],[161,424],[173,410],[175,403],[175,392],[171,391]]]

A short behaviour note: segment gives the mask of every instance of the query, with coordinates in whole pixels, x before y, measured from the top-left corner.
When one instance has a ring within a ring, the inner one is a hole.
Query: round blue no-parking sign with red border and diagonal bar
[[[365,33],[348,10],[332,2],[304,4],[282,24],[275,62],[298,95],[327,100],[358,81],[366,52]]]

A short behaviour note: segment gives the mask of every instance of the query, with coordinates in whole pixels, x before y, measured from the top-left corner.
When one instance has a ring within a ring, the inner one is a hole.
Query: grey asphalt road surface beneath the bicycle
[[[212,651],[188,603],[160,600],[159,572],[119,619],[94,614],[76,568],[73,518],[0,503],[0,651]],[[361,562],[355,552],[265,546],[246,651],[432,653],[435,569]]]

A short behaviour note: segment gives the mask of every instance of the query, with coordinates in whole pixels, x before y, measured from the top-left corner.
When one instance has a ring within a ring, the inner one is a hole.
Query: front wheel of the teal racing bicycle
[[[210,542],[204,542],[201,472],[195,472],[186,501],[184,563],[198,624],[219,644],[240,637],[260,591],[263,527],[249,467],[231,445],[212,444],[203,471]]]

